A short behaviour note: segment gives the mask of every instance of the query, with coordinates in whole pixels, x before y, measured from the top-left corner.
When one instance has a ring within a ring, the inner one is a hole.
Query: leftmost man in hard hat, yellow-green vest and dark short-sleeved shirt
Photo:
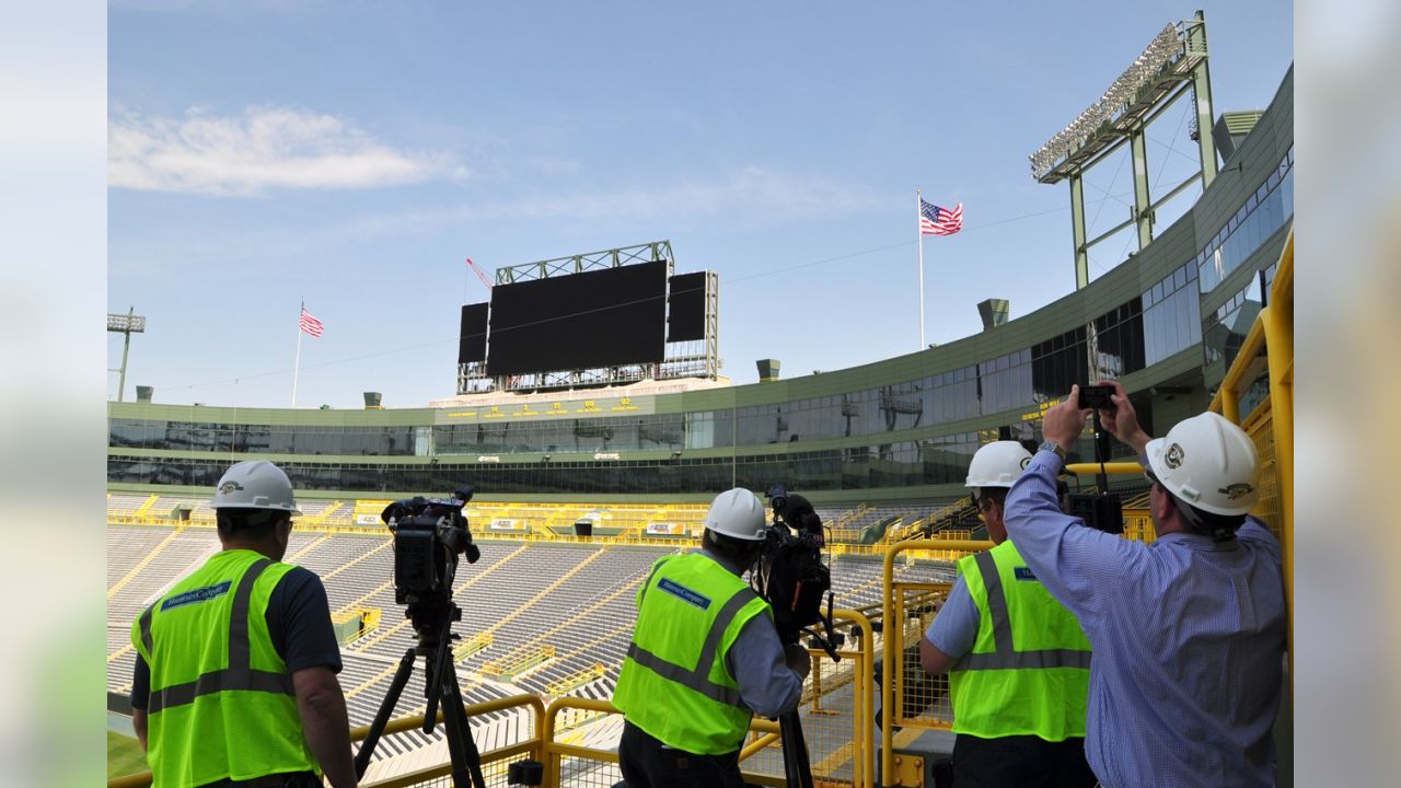
[[[354,788],[340,646],[315,573],[283,564],[291,482],[238,463],[212,503],[223,545],[132,624],[132,724],[154,788]]]

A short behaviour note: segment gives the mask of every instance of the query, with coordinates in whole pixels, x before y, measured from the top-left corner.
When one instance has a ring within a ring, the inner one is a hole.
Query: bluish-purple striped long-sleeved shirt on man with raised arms
[[[1056,503],[1038,451],[1007,494],[1007,534],[1090,638],[1086,757],[1104,785],[1274,785],[1285,587],[1279,543],[1247,517],[1234,541],[1143,544]]]

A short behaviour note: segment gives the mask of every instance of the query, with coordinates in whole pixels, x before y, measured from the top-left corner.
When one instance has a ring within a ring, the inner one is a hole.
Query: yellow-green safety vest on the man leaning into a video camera
[[[695,754],[740,749],[752,712],[726,655],[755,616],[773,616],[743,579],[699,552],[658,559],[637,590],[637,625],[614,705],[661,743]]]

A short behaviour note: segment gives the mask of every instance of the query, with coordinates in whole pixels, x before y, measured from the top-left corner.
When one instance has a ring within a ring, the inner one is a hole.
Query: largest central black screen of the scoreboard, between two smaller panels
[[[665,330],[665,261],[497,285],[486,372],[661,363]]]

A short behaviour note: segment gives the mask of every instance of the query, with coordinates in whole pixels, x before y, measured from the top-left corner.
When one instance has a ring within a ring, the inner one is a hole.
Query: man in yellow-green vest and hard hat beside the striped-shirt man
[[[1007,489],[1031,461],[1014,440],[978,449],[967,487],[996,545],[958,561],[948,599],[919,641],[929,673],[948,672],[954,785],[1090,788],[1084,702],[1090,642],[1007,541]]]

